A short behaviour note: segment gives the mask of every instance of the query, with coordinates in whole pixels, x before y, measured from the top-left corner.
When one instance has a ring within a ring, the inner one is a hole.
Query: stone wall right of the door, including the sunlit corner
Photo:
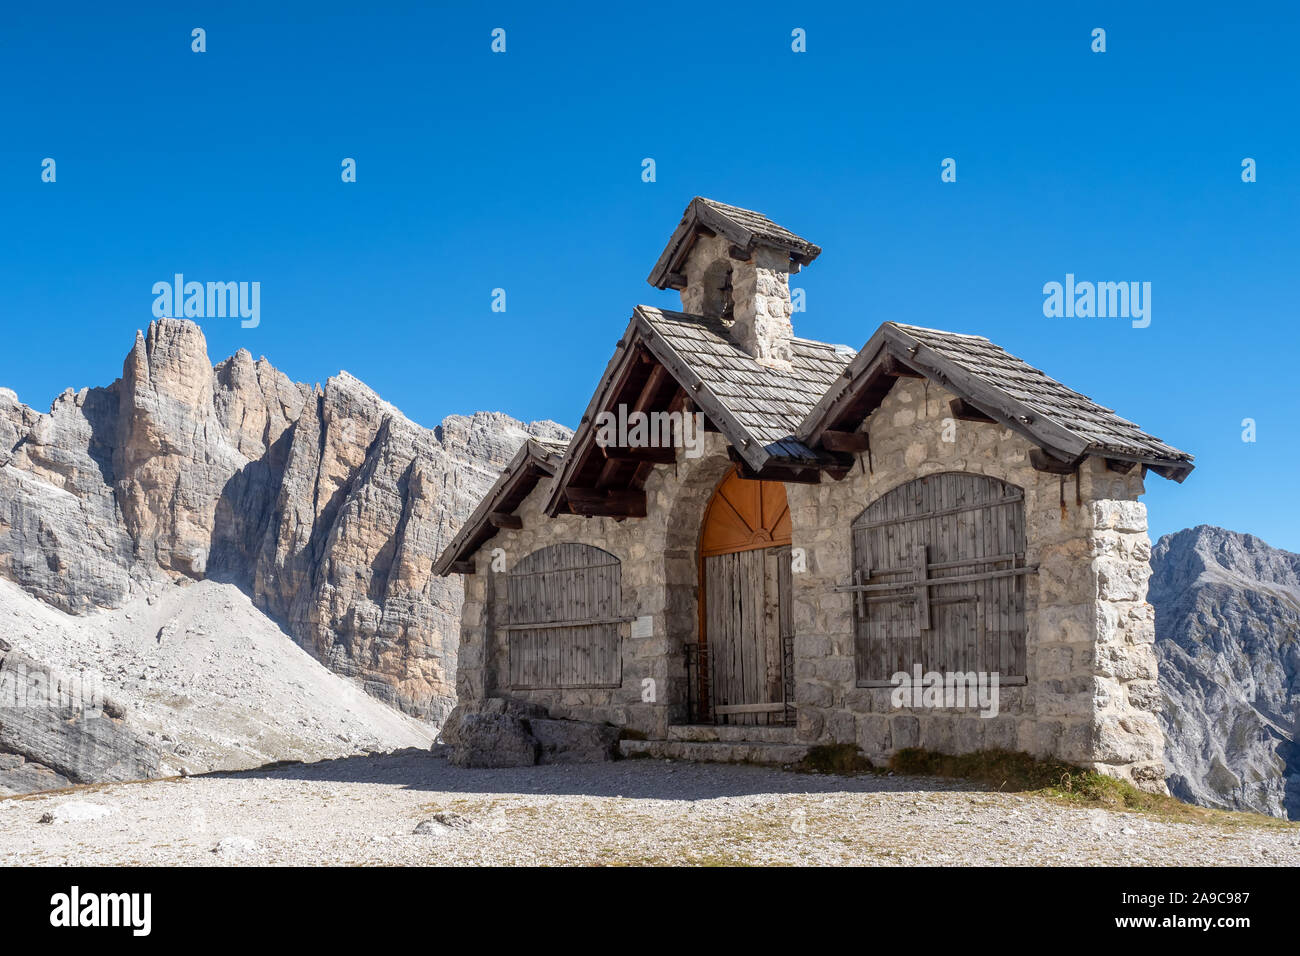
[[[905,747],[1024,750],[1162,786],[1140,470],[1119,475],[1088,459],[1080,506],[1074,476],[1035,471],[1031,445],[1010,429],[952,420],[952,398],[924,380],[900,380],[863,425],[870,473],[858,467],[844,481],[786,485],[794,544],[809,555],[807,574],[794,576],[801,739],[855,741],[875,758]],[[1002,687],[991,718],[974,708],[894,709],[890,688],[857,687],[852,596],[832,591],[852,576],[854,518],[885,492],[946,471],[1024,489],[1026,561],[1039,564],[1026,581],[1028,680]]]

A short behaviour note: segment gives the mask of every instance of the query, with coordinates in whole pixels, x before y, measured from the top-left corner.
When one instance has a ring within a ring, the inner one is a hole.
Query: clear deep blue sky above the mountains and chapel
[[[676,304],[645,276],[699,194],[823,247],[796,278],[798,334],[985,334],[1196,454],[1183,485],[1149,479],[1153,536],[1210,523],[1300,550],[1295,5],[5,18],[0,385],[38,408],[117,377],[152,285],[183,272],[261,284],[257,328],[203,321],[213,360],[247,347],[308,382],[346,368],[428,425],[478,408],[573,424],[632,306]],[[1149,281],[1150,326],[1044,317],[1066,273]]]

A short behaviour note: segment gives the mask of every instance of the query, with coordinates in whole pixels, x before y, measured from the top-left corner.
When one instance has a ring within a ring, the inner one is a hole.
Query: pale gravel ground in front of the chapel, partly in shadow
[[[6,797],[0,864],[1295,866],[1300,830],[1164,823],[928,778],[651,760],[460,770],[407,750]]]

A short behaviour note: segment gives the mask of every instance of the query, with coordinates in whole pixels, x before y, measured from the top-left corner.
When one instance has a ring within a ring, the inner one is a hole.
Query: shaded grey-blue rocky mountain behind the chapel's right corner
[[[1300,818],[1300,554],[1202,524],[1152,571],[1170,790]]]

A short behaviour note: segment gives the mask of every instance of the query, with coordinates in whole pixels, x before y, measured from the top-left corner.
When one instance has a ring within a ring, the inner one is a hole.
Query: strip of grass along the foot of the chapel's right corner
[[[890,758],[889,769],[896,774],[956,777],[988,784],[1000,792],[1034,793],[1074,806],[1141,813],[1170,823],[1300,829],[1300,823],[1261,813],[1193,806],[1164,793],[1148,793],[1127,780],[1118,780],[1096,770],[1054,760],[1037,760],[1014,750],[948,754],[906,748]]]

